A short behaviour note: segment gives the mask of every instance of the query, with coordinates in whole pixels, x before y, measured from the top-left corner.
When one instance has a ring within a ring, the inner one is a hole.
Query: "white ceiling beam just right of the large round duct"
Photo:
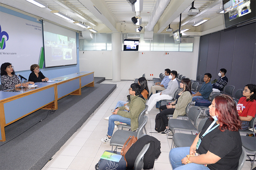
[[[161,33],[169,24],[171,24],[194,0],[171,0],[166,7],[161,18],[158,20],[159,30]]]

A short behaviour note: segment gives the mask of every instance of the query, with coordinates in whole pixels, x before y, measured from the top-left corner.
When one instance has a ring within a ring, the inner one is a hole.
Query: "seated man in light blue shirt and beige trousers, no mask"
[[[171,70],[169,68],[166,68],[165,69],[165,78],[163,78],[161,83],[157,82],[157,83],[155,83],[154,86],[151,86],[150,91],[149,91],[149,95],[151,95],[151,93],[155,94],[157,90],[163,91],[167,88],[168,83],[171,80],[171,79],[168,78],[170,73],[171,73]]]

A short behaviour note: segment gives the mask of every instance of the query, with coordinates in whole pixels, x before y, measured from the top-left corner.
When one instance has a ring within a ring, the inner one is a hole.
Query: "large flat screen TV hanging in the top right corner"
[[[255,0],[223,0],[226,28],[256,18]]]

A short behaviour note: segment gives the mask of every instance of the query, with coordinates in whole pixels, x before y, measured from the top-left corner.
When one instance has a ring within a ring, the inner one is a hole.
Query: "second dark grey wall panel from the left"
[[[221,40],[221,32],[215,32],[210,34],[209,45],[208,45],[208,57],[206,72],[213,75],[212,79],[216,78],[218,56],[219,56],[219,41]]]

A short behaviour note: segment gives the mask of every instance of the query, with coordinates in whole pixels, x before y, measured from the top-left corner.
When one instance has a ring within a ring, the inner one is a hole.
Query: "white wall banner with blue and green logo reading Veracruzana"
[[[42,24],[0,12],[0,65],[12,63],[15,71],[29,70],[42,55]]]

